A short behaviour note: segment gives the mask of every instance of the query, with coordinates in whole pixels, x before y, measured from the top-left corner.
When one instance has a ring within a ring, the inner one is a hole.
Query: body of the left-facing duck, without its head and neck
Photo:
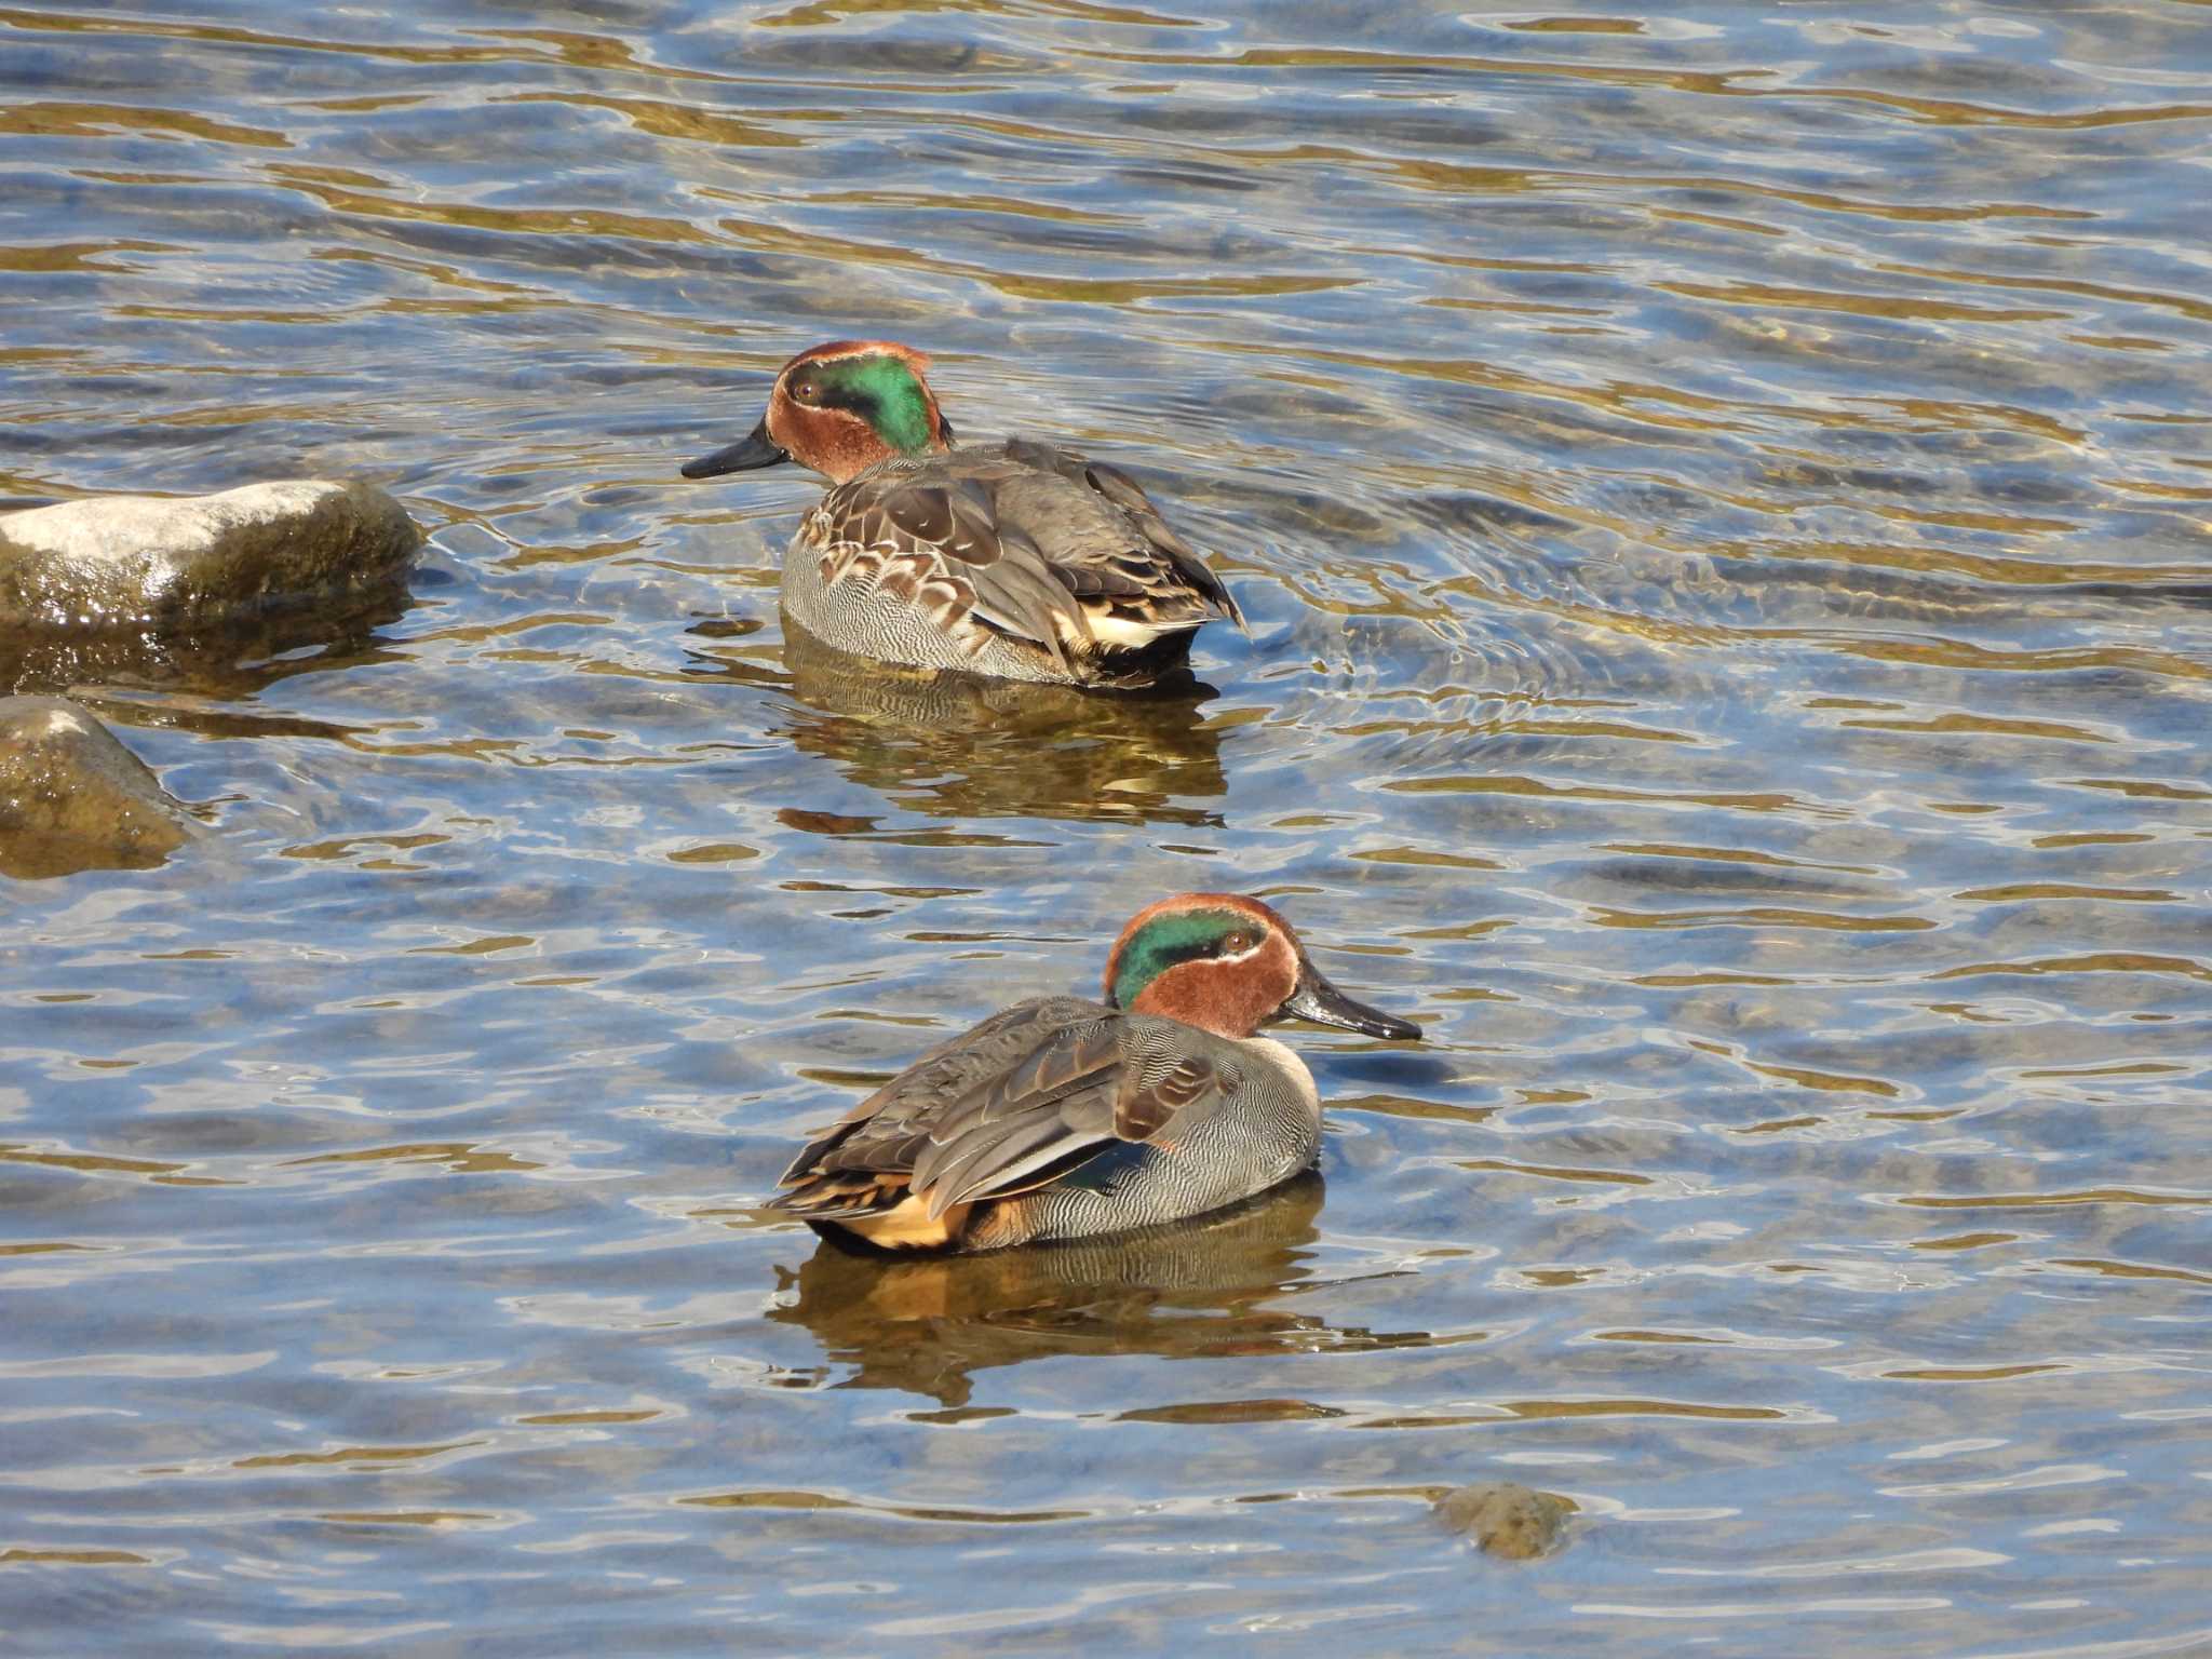
[[[814,637],[918,668],[1155,679],[1237,602],[1126,473],[1009,440],[880,462],[801,520],[783,604]]]

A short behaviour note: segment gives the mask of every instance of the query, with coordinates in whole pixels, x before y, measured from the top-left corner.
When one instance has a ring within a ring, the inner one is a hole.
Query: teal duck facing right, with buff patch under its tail
[[[765,1208],[876,1250],[1002,1250],[1208,1214],[1310,1170],[1321,1093],[1259,1029],[1418,1042],[1245,894],[1177,894],[1106,953],[1104,1000],[1044,995],[938,1044],[816,1135]]]

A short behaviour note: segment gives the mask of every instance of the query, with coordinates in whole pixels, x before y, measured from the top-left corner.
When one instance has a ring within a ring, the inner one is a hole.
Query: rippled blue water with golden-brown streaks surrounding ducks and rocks
[[[2179,0],[0,9],[0,493],[434,535],[0,883],[9,1652],[2212,1648],[2208,159]],[[787,650],[841,334],[1252,637]],[[757,1208],[1181,887],[1429,1026],[1321,1181]]]

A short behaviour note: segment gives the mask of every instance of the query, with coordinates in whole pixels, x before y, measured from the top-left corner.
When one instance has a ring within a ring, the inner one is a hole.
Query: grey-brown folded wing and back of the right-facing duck
[[[805,1217],[1029,1192],[1128,1141],[1175,1139],[1243,1082],[1234,1051],[1168,1020],[1042,998],[931,1048],[783,1172]]]

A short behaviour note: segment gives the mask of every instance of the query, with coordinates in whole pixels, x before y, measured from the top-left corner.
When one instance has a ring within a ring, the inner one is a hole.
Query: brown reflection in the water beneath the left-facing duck
[[[790,737],[854,783],[951,818],[1214,825],[1228,794],[1214,688],[1177,675],[1144,692],[1084,692],[849,657],[785,624]]]

